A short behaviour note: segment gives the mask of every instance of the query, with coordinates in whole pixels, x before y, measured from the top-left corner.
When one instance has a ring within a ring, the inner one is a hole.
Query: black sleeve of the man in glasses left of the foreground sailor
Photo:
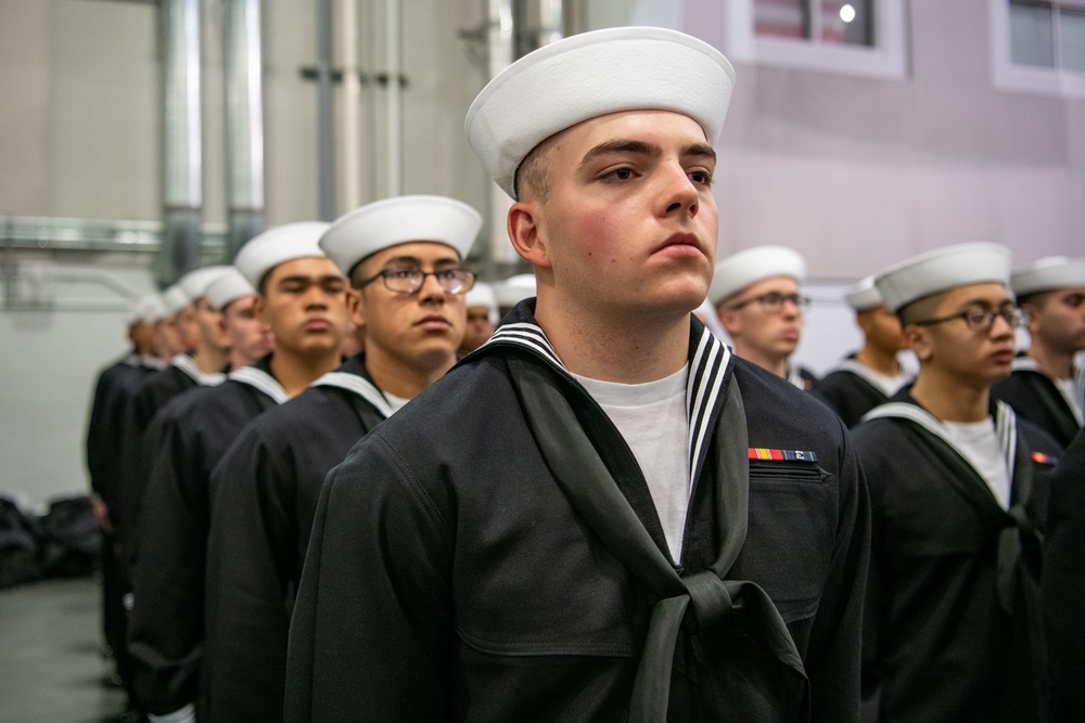
[[[204,680],[210,720],[282,715],[296,474],[251,426],[212,473]]]

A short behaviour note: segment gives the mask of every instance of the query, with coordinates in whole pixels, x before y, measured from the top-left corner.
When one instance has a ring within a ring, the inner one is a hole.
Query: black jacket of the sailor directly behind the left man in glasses
[[[149,430],[156,451],[140,508],[128,640],[138,694],[155,714],[196,701],[208,477],[246,424],[286,400],[269,364],[270,356],[217,387],[178,397]]]

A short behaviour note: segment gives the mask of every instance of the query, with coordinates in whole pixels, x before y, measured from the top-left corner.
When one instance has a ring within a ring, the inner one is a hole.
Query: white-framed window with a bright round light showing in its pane
[[[737,61],[903,78],[904,0],[731,0]]]

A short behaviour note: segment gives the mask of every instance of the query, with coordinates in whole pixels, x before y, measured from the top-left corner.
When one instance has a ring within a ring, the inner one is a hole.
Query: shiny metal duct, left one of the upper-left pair
[[[155,281],[167,286],[200,266],[203,218],[200,0],[162,0],[163,247]]]

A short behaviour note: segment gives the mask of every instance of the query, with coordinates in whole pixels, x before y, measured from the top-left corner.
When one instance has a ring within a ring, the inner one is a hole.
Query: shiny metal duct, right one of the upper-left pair
[[[229,231],[224,262],[230,263],[265,227],[260,0],[227,0],[225,24]]]

